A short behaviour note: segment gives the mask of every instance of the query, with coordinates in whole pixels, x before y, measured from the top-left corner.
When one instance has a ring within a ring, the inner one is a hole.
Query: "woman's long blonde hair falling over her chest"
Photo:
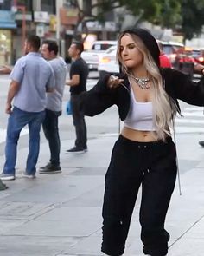
[[[118,37],[117,56],[124,73],[129,75],[131,71],[124,65],[120,52],[120,41],[124,35],[131,36],[133,41],[137,43],[137,49],[143,54],[143,65],[153,84],[152,104],[153,118],[156,124],[156,139],[165,141],[166,137],[170,135],[169,128],[173,128],[173,122],[176,115],[175,104],[171,102],[169,95],[163,89],[163,77],[156,62],[151,56],[149,49],[147,49],[139,36],[131,33],[121,34]]]

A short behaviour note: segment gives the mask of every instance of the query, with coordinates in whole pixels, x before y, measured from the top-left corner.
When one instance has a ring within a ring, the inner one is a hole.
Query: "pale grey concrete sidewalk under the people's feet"
[[[1,256],[99,256],[101,206],[105,171],[116,135],[99,135],[88,141],[86,154],[65,154],[72,140],[61,141],[61,174],[21,177],[28,149],[18,153],[16,181],[0,192]],[[38,167],[48,161],[48,143],[41,144]],[[3,158],[0,158],[3,164]],[[2,166],[1,166],[2,167]],[[182,174],[171,200],[166,229],[171,235],[170,256],[203,256],[204,161]],[[138,206],[131,221],[125,256],[142,256]]]

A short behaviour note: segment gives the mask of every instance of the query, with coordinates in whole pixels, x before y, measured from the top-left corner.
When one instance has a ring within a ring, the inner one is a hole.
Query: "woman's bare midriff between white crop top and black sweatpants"
[[[131,128],[124,127],[122,129],[121,135],[123,135],[124,138],[127,138],[131,141],[138,141],[138,142],[156,141],[156,133],[153,131],[139,131],[139,130],[134,130]]]

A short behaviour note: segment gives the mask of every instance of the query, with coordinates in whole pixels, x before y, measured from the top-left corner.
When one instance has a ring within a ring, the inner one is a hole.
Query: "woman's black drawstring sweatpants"
[[[167,254],[169,233],[164,229],[164,221],[175,187],[175,156],[175,144],[170,137],[165,142],[136,142],[119,136],[105,175],[103,253],[111,256],[124,253],[131,215],[142,184],[143,253]]]

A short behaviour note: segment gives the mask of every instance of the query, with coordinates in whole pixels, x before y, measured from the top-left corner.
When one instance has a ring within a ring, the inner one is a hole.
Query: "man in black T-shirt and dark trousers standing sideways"
[[[73,125],[76,131],[76,140],[73,148],[67,150],[67,154],[80,154],[87,151],[87,135],[84,114],[79,108],[80,93],[86,91],[88,66],[81,58],[84,50],[83,43],[73,42],[68,49],[69,56],[73,59],[70,67],[70,80],[66,82],[70,86],[71,107],[73,111]]]

